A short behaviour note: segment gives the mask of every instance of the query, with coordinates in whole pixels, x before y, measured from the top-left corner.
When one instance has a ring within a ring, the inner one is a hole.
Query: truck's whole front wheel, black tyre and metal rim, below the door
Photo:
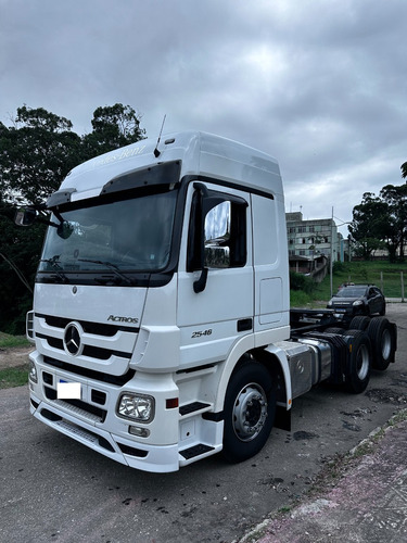
[[[270,434],[275,414],[276,388],[267,369],[255,362],[239,367],[225,397],[225,458],[238,463],[257,454]]]

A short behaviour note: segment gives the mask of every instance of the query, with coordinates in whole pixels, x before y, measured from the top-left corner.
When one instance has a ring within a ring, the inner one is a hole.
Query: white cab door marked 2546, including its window
[[[187,195],[178,273],[181,366],[225,359],[253,331],[250,198],[209,182]]]

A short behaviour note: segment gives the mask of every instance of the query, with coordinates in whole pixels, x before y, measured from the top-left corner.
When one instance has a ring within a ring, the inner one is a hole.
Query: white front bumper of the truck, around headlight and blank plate
[[[178,402],[168,406],[167,400],[178,399],[180,392],[171,374],[136,372],[130,381],[117,386],[50,366],[38,351],[30,359],[38,377],[38,382],[29,381],[31,414],[109,458],[144,471],[170,472],[221,450],[222,421],[201,416],[212,405],[194,402],[194,413],[178,408]],[[61,380],[80,382],[79,401],[58,397]],[[141,424],[119,417],[116,406],[123,392],[153,395],[154,419]],[[147,428],[149,435],[130,434],[131,427]]]

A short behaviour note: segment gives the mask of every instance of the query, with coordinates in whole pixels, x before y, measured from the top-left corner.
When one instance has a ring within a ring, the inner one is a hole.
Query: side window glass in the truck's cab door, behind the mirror
[[[246,206],[225,200],[204,220],[205,266],[228,268],[246,263]]]

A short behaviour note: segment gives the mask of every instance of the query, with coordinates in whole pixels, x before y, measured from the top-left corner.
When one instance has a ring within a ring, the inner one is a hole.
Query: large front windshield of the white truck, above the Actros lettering
[[[156,272],[169,261],[177,190],[61,212],[39,272]]]

